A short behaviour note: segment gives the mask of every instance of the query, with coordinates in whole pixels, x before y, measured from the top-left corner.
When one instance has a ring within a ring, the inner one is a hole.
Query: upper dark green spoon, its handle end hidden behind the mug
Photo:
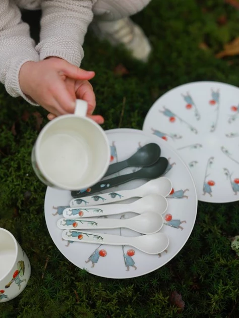
[[[148,167],[156,163],[160,157],[161,149],[156,143],[148,143],[139,148],[130,158],[119,163],[111,164],[104,177],[112,175],[115,172],[127,167]]]

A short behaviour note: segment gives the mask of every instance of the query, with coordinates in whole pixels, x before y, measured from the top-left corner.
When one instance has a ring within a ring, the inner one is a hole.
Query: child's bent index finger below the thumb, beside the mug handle
[[[84,99],[88,103],[87,114],[92,115],[95,110],[96,100],[92,85],[88,81],[76,83],[77,98]]]

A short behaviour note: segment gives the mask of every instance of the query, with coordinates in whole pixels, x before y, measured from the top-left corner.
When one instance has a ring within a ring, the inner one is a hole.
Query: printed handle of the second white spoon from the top
[[[133,212],[129,204],[102,204],[92,205],[87,208],[68,207],[63,210],[63,216],[66,219],[81,219],[100,216],[109,216],[125,212]]]

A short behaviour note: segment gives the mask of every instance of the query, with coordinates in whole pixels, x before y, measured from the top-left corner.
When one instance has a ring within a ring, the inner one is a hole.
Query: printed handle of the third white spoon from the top
[[[62,230],[118,229],[127,227],[126,220],[118,219],[59,219],[57,227]],[[127,227],[128,228],[128,227]]]

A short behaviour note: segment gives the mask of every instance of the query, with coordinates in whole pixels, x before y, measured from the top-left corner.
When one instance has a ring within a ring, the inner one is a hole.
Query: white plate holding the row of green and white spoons
[[[168,209],[163,218],[167,214],[170,214],[172,217],[169,216],[168,220],[170,218],[172,220],[168,222],[164,220],[165,225],[160,231],[166,233],[169,237],[167,251],[162,252],[161,255],[148,255],[130,246],[122,247],[63,241],[61,237],[62,230],[57,228],[56,222],[62,218],[62,208],[60,206],[67,206],[69,204],[71,199],[70,191],[47,188],[45,195],[46,224],[56,247],[77,267],[87,269],[91,274],[107,278],[137,277],[150,273],[166,264],[187,242],[193,230],[197,214],[196,189],[188,168],[165,141],[144,133],[141,130],[134,129],[113,129],[106,131],[106,134],[111,145],[112,163],[125,160],[137,151],[139,146],[150,142],[157,143],[161,147],[161,155],[170,158],[169,162],[171,165],[166,173],[166,177],[173,184],[175,190],[173,196],[176,198],[168,198]],[[120,174],[129,173],[132,170],[134,168],[127,168],[125,171],[120,172]],[[115,187],[112,191],[133,189],[144,183],[140,180],[134,180],[117,188]],[[128,201],[132,202],[134,200],[130,199]],[[59,214],[53,206],[58,207]],[[125,214],[125,218],[136,215],[135,213],[127,213]],[[109,218],[119,219],[121,215],[109,216]],[[100,233],[102,230],[98,230],[97,232]],[[103,230],[103,233],[123,236],[141,235],[124,228]],[[92,267],[93,265],[94,267]]]

